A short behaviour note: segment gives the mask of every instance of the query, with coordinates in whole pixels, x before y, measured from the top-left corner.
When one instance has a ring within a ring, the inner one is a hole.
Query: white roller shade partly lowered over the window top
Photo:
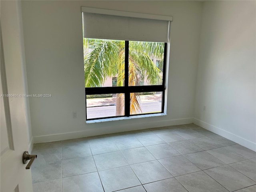
[[[171,16],[82,7],[84,37],[168,42]]]

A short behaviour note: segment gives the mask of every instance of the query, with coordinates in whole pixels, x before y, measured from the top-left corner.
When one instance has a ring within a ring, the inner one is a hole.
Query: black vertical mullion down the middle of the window
[[[129,86],[129,41],[125,41],[124,87]],[[128,89],[126,89],[128,90]],[[124,116],[130,116],[130,92],[124,94]]]

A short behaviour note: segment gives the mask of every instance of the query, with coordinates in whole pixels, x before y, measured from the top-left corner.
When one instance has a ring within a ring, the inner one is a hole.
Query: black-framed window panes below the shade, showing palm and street
[[[165,63],[166,43],[84,38],[87,120],[162,113],[165,73],[151,58]]]

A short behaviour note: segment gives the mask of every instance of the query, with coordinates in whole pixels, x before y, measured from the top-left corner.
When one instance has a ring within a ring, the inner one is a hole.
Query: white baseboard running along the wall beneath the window
[[[111,134],[111,133],[117,133],[117,132],[154,128],[154,127],[189,124],[189,123],[192,123],[193,121],[194,121],[194,118],[184,118],[184,119],[174,119],[174,120],[165,120],[165,121],[155,121],[155,122],[148,122],[148,123],[144,122],[139,124],[138,123],[123,124],[122,130],[120,130],[120,126],[107,127],[107,128],[104,127],[104,128],[90,129],[90,130],[77,131],[77,132],[34,136],[33,139],[34,139],[34,143],[44,143],[44,142],[75,139],[75,138],[96,136],[96,135],[102,135],[102,134]],[[104,122],[99,122],[99,125],[101,123],[104,123]]]

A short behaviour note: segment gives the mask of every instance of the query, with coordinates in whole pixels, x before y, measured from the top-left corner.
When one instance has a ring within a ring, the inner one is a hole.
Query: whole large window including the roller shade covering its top
[[[86,120],[163,113],[172,18],[82,11]]]

